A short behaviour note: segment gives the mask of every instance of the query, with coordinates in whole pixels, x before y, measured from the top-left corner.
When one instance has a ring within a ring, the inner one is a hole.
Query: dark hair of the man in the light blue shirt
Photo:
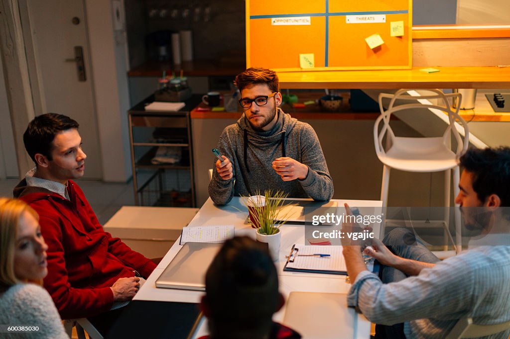
[[[465,171],[472,174],[473,190],[481,202],[491,194],[510,207],[510,148],[469,149],[460,159]]]

